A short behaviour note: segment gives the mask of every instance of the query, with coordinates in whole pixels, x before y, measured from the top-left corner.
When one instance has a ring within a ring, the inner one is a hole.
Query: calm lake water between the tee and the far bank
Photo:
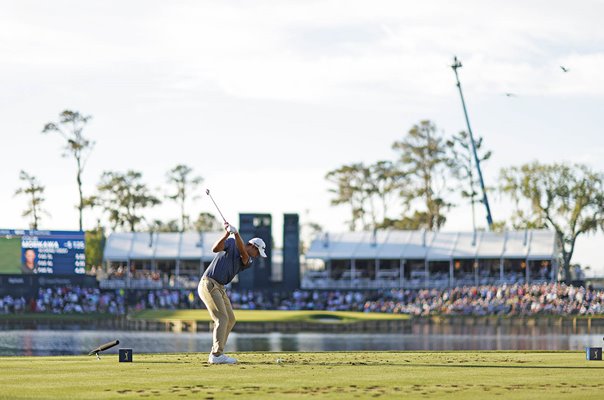
[[[571,333],[563,328],[417,326],[405,333],[236,333],[226,350],[236,351],[378,351],[378,350],[584,350],[602,347],[603,333]],[[0,356],[87,354],[119,340],[134,353],[207,353],[212,335],[202,333],[9,330],[0,331]]]

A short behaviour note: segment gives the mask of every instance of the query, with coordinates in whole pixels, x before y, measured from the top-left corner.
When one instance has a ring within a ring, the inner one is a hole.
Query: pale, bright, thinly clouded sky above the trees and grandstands
[[[92,116],[85,195],[103,171],[127,170],[166,193],[167,171],[186,164],[228,220],[272,214],[277,244],[283,213],[343,231],[328,171],[395,160],[392,143],[421,120],[444,136],[466,129],[453,56],[472,130],[493,151],[487,185],[532,161],[604,171],[602,15],[596,0],[0,0],[0,227],[29,226],[14,196],[24,170],[46,188],[40,228],[78,228],[75,161],[41,133],[70,109]],[[216,214],[199,195],[189,213]],[[490,202],[509,219],[509,200]],[[471,229],[459,202],[444,230]],[[573,261],[604,275],[603,244],[580,237]]]

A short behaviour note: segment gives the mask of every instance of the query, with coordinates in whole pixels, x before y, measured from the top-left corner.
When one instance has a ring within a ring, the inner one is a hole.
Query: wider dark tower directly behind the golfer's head
[[[238,289],[267,289],[272,275],[273,241],[270,214],[239,214],[239,232],[245,240],[259,237],[266,243],[266,258],[258,257],[257,264],[238,275]]]

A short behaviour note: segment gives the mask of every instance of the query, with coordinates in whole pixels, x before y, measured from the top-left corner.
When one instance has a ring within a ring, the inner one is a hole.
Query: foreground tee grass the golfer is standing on
[[[233,353],[0,357],[2,399],[601,399],[581,352]],[[281,359],[282,362],[277,362]]]

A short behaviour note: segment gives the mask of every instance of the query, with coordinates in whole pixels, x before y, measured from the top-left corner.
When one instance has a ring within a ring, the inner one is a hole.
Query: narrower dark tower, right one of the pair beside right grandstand
[[[283,289],[300,289],[300,218],[283,214]]]

